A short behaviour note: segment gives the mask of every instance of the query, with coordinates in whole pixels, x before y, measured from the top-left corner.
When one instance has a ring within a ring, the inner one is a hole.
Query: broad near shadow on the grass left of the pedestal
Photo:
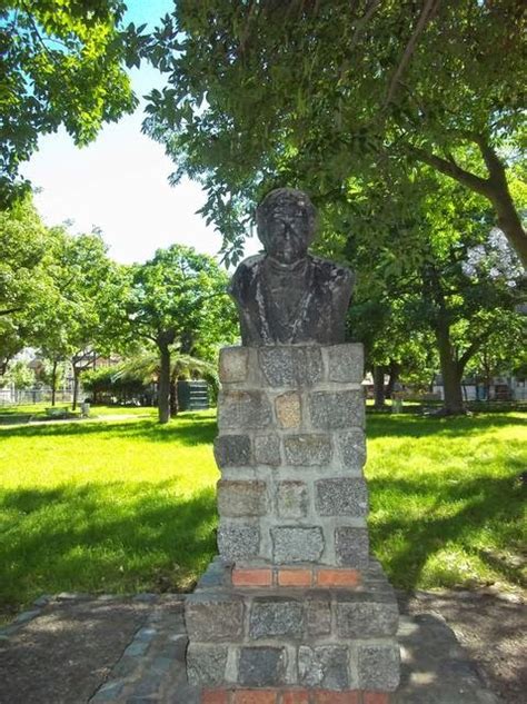
[[[0,609],[42,593],[188,589],[216,553],[213,487],[112,483],[0,494]]]

